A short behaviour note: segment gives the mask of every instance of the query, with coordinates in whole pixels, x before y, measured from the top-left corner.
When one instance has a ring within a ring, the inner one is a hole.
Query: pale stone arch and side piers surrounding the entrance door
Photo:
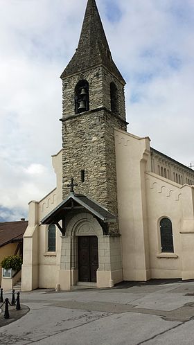
[[[97,236],[98,269],[96,286],[108,288],[123,280],[120,236],[103,234],[103,229],[90,213],[78,213],[67,224],[62,236],[58,283],[62,290],[71,290],[78,282],[78,237]]]

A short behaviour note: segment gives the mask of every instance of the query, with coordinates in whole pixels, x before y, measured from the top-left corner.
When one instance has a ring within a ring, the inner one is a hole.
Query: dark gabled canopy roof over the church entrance
[[[64,219],[70,211],[82,209],[89,211],[89,213],[93,214],[98,220],[104,223],[116,222],[116,216],[107,211],[103,206],[85,195],[73,193],[55,207],[53,211],[48,213],[41,222],[42,224],[57,224],[60,220]]]

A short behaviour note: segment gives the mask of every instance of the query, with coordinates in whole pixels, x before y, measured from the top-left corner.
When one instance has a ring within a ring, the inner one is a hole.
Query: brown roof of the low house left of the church
[[[20,220],[19,222],[0,222],[0,247],[8,245],[8,243],[21,241],[27,227],[27,220]]]

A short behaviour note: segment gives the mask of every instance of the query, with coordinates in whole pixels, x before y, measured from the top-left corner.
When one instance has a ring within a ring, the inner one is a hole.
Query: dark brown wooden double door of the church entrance
[[[98,238],[78,236],[79,281],[96,282],[98,269]]]

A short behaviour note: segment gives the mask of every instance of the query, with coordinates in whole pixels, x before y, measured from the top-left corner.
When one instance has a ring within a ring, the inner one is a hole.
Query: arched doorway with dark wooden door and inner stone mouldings
[[[97,282],[102,238],[103,229],[93,215],[78,213],[69,221],[65,239],[69,242],[70,257],[64,260],[69,260],[71,285]]]

